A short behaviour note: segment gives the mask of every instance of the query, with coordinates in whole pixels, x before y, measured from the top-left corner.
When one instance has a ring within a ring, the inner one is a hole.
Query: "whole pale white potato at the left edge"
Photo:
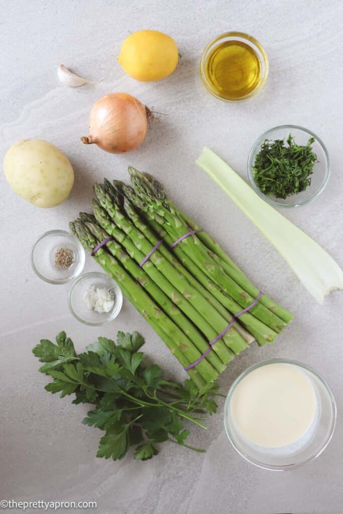
[[[38,207],[61,204],[74,183],[74,171],[66,156],[42,139],[12,144],[5,155],[4,171],[11,188]]]

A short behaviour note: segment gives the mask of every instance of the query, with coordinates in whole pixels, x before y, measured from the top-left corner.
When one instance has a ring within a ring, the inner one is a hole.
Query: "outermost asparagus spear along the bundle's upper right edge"
[[[175,213],[178,217],[182,218],[186,225],[191,228],[191,230],[197,230],[200,228],[192,219],[184,214],[167,198],[163,185],[154,177],[148,173],[140,173],[132,167],[129,167],[129,173],[132,177],[139,177],[140,182],[139,185],[137,185],[139,191],[145,191],[147,193],[147,190],[150,190],[151,193],[155,195],[155,199],[158,198],[159,207],[160,205],[166,206],[171,213]],[[142,187],[142,184],[144,184],[144,187]],[[250,296],[256,298],[259,292],[258,289],[247,279],[243,271],[240,270],[240,268],[232,261],[232,259],[230,259],[230,257],[224,252],[220,245],[216,243],[206,232],[199,232],[197,237],[204,243],[205,246],[207,246],[207,248],[209,248],[209,250],[214,255],[216,255],[215,261],[224,268],[227,274],[229,274],[229,276],[234,281],[236,281],[243,289],[245,289]],[[266,295],[262,295],[259,301],[265,307],[275,313],[279,318],[281,318],[284,322],[289,323],[292,321],[292,314],[268,298]]]

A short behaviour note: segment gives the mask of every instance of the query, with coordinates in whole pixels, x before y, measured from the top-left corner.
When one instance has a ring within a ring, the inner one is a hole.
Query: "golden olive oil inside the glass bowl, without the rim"
[[[243,41],[223,41],[215,46],[205,62],[205,74],[216,94],[226,100],[249,95],[261,79],[257,52]]]

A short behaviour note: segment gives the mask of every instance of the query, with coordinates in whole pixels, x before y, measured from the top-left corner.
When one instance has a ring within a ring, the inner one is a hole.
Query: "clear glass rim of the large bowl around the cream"
[[[227,424],[227,413],[228,413],[228,409],[229,409],[229,402],[231,400],[231,397],[232,397],[234,389],[236,389],[237,384],[246,375],[248,375],[251,371],[254,371],[254,370],[258,369],[258,368],[261,368],[264,365],[274,364],[274,363],[294,364],[294,365],[299,366],[300,368],[303,368],[304,370],[312,373],[313,375],[315,375],[315,377],[318,378],[318,380],[323,384],[324,389],[326,390],[326,392],[327,392],[327,394],[329,396],[330,405],[331,405],[331,409],[332,409],[332,422],[331,422],[330,430],[329,430],[329,433],[328,433],[327,437],[323,440],[323,443],[321,444],[320,448],[314,454],[312,454],[310,457],[304,459],[303,461],[301,461],[301,462],[299,462],[297,464],[292,464],[292,465],[287,465],[287,466],[268,465],[268,464],[265,464],[265,463],[263,463],[261,461],[257,461],[254,458],[246,455],[236,445],[236,443],[234,441],[234,438],[231,436],[231,432],[230,432],[230,429],[229,429],[228,424]],[[298,360],[286,359],[286,358],[267,359],[267,360],[264,360],[264,361],[252,364],[251,366],[246,368],[242,373],[240,373],[240,375],[236,378],[236,380],[234,380],[232,382],[231,387],[230,387],[230,389],[229,389],[229,391],[227,393],[227,396],[226,396],[226,399],[225,399],[225,404],[224,404],[224,427],[225,427],[225,432],[226,432],[226,435],[227,435],[231,445],[233,446],[233,448],[241,455],[241,457],[243,457],[250,464],[254,464],[255,466],[257,466],[259,468],[267,469],[267,470],[270,470],[270,471],[287,471],[287,470],[290,470],[290,469],[296,469],[296,468],[299,468],[300,466],[304,466],[305,464],[314,461],[315,458],[317,458],[324,451],[324,449],[326,449],[326,447],[330,443],[330,440],[331,440],[331,438],[333,436],[333,433],[335,431],[336,417],[337,417],[336,400],[335,400],[334,395],[333,395],[333,393],[332,393],[332,391],[331,391],[331,389],[329,387],[328,382],[326,380],[324,380],[324,378],[314,368],[312,368],[312,366],[310,366],[308,364],[305,364],[304,362],[300,362]]]

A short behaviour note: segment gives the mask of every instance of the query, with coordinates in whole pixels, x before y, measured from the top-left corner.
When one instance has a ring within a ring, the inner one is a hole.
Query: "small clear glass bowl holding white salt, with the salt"
[[[113,321],[123,303],[118,284],[106,273],[84,273],[71,285],[68,305],[71,314],[85,325]]]

